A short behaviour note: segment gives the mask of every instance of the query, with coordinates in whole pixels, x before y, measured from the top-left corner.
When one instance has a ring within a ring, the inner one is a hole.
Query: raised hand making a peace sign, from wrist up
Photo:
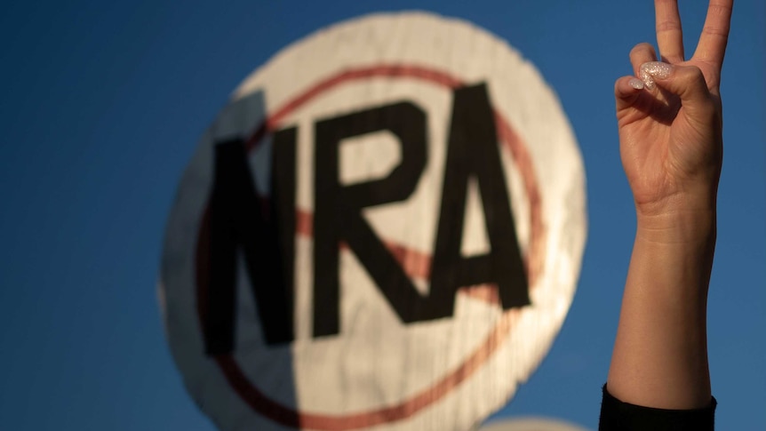
[[[697,51],[684,60],[676,0],[655,0],[663,63],[650,63],[657,61],[654,49],[638,44],[630,60],[642,80],[624,76],[615,84],[620,156],[640,222],[714,208],[722,164],[719,84],[732,4],[710,1]]]

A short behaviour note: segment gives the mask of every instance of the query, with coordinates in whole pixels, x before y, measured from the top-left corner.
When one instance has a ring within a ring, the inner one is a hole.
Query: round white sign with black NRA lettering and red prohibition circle
[[[465,21],[370,15],[276,54],[204,133],[168,339],[223,430],[467,429],[546,354],[585,236],[538,71]]]

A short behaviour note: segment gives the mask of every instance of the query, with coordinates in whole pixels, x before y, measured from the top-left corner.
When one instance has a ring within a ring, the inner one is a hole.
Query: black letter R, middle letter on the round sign
[[[314,335],[339,333],[339,247],[345,241],[404,322],[423,320],[427,298],[365,221],[365,207],[403,201],[426,165],[426,115],[409,102],[371,108],[315,124]],[[379,131],[392,132],[402,163],[386,178],[342,186],[341,140]]]

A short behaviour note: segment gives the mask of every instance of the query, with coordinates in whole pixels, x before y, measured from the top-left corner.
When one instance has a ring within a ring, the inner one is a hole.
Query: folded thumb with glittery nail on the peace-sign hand
[[[653,90],[656,84],[678,96],[682,107],[700,121],[705,121],[714,111],[714,100],[707,89],[705,76],[696,66],[649,61],[641,65],[639,76],[648,90]]]

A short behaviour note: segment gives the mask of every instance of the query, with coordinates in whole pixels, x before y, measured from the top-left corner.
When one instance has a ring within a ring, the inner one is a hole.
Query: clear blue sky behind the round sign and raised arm
[[[723,69],[725,160],[710,293],[720,429],[766,416],[766,46],[738,0]],[[555,345],[500,415],[594,429],[633,241],[612,84],[653,42],[650,1],[20,2],[0,14],[0,429],[212,430],[164,339],[165,221],[196,141],[254,68],[367,12],[460,17],[534,62],[586,164],[589,236]],[[706,2],[682,0],[687,52]]]

